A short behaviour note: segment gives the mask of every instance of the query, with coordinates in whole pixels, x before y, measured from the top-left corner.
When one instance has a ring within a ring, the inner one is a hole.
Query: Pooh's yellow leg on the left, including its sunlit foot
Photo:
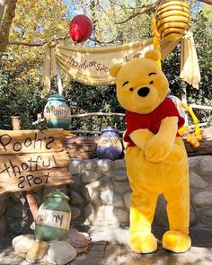
[[[150,253],[157,250],[157,241],[151,233],[155,215],[157,196],[149,192],[133,191],[130,208],[129,245],[137,253]]]

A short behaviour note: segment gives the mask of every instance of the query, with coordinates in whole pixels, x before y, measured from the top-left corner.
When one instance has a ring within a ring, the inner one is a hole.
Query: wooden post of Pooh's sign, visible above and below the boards
[[[11,122],[12,122],[13,130],[22,129],[22,121],[19,116],[11,116]],[[29,204],[31,215],[33,216],[34,221],[36,221],[37,216],[38,216],[38,205],[37,205],[35,196],[31,191],[26,191],[26,192],[23,191],[23,192]]]

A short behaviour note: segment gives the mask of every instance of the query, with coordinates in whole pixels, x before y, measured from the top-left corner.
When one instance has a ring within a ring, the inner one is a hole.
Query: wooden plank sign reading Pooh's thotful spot
[[[0,130],[0,194],[71,183],[63,129]]]

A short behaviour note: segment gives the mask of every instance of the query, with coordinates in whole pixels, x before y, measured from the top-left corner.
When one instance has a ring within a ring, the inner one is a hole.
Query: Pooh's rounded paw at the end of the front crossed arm
[[[172,145],[159,135],[155,135],[146,146],[145,155],[151,162],[161,162],[171,154],[171,151]]]

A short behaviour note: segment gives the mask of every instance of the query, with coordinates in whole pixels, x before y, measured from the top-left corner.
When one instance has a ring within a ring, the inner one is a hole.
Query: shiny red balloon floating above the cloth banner
[[[70,23],[71,39],[77,43],[87,40],[93,31],[91,20],[84,14],[77,14]]]

